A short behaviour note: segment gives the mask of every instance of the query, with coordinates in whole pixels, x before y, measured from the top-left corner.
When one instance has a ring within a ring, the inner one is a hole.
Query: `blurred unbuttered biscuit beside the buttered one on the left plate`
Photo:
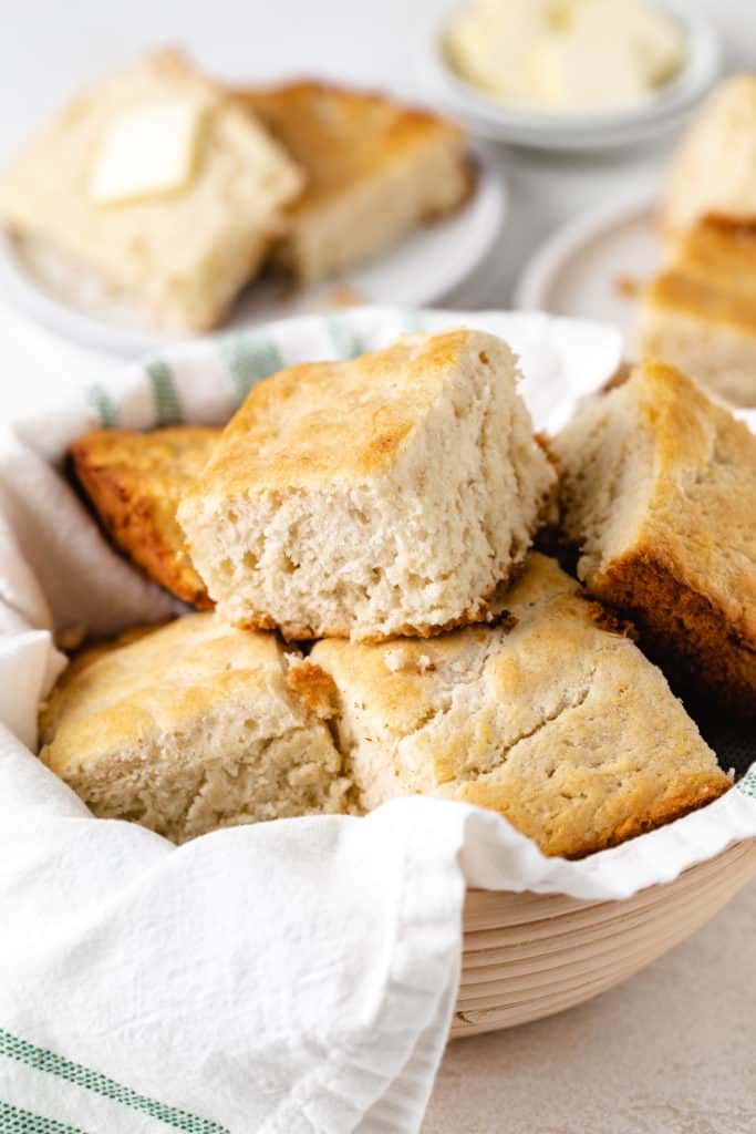
[[[306,172],[275,249],[300,282],[368,260],[470,192],[465,136],[439,115],[315,82],[239,98]]]

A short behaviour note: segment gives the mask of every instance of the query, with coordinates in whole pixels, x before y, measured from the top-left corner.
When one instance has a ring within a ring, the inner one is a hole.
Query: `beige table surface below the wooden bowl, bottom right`
[[[756,882],[617,989],[456,1040],[423,1134],[755,1134]]]

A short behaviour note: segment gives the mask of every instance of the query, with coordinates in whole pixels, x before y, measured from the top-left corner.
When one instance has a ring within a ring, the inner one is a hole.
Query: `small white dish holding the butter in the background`
[[[625,111],[555,116],[509,109],[487,98],[456,75],[444,59],[442,37],[451,11],[428,43],[423,59],[424,79],[434,99],[485,137],[541,150],[604,150],[631,145],[679,127],[721,70],[721,43],[714,27],[697,12],[691,12],[686,0],[663,0],[663,6],[686,27],[686,66],[647,102]],[[459,7],[459,2],[453,7]]]

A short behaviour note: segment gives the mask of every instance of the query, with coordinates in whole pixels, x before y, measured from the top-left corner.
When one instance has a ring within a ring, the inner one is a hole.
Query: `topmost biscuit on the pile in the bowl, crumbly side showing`
[[[178,510],[219,612],[287,638],[489,619],[554,483],[517,376],[462,329],[255,386]]]

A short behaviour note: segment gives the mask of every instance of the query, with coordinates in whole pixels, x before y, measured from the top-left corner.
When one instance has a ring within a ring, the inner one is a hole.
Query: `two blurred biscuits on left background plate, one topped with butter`
[[[0,218],[68,299],[218,325],[263,269],[338,274],[473,186],[462,132],[322,83],[230,90],[161,51],[82,92],[0,175]]]

